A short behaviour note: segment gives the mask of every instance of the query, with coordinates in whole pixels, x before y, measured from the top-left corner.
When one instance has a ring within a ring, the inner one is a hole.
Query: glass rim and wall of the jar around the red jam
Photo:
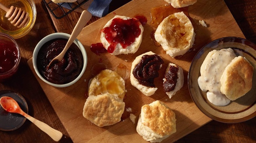
[[[15,65],[11,68],[11,70],[4,72],[4,73],[0,73],[0,81],[4,81],[5,79],[11,77],[18,70],[19,63],[20,63],[20,49],[19,49],[19,46],[16,43],[16,41],[8,34],[0,33],[0,42],[1,41],[8,41],[8,42],[13,43],[18,50],[18,53],[17,53],[18,61],[15,63]]]

